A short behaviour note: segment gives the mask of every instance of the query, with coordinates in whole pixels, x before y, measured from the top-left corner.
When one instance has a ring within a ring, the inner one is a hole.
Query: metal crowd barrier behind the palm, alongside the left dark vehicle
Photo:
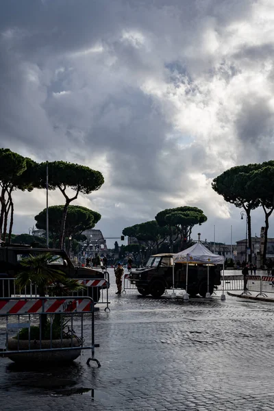
[[[73,297],[91,297],[95,304],[106,305],[105,311],[110,311],[110,299],[108,289],[110,287],[110,274],[104,271],[104,278],[77,279],[79,284],[86,286],[78,292],[71,292]],[[15,278],[0,277],[0,297],[39,297],[36,285],[29,282],[23,290],[16,286]],[[48,292],[50,295],[50,290]],[[99,301],[97,301],[99,299]]]

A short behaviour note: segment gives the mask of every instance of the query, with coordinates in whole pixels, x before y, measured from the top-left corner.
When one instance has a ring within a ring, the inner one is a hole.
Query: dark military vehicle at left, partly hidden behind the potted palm
[[[66,251],[60,249],[48,249],[48,248],[36,248],[31,245],[22,244],[10,244],[1,243],[0,247],[0,281],[1,278],[14,278],[16,273],[22,271],[22,266],[20,264],[23,258],[29,255],[36,255],[41,253],[50,253],[55,259],[53,262],[49,263],[55,269],[63,271],[69,278],[79,278],[79,279],[103,279],[103,271],[100,269],[90,269],[88,267],[75,267],[73,262],[71,262]],[[2,284],[0,284],[0,297],[10,297],[11,290],[13,290],[13,284],[8,282],[3,282],[5,285],[5,290],[3,290]],[[9,288],[7,290],[7,287]],[[88,296],[92,297],[95,302],[100,299],[100,289],[106,288],[102,287],[88,287]],[[8,293],[8,295],[7,295]]]

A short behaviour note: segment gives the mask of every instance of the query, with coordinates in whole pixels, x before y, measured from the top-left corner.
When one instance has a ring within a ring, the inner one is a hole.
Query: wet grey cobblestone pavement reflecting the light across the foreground
[[[114,292],[95,313],[101,368],[86,352],[35,371],[0,359],[1,410],[274,410],[273,303]]]

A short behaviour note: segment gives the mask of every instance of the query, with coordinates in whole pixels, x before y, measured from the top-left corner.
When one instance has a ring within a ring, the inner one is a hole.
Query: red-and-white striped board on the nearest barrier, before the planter
[[[55,314],[56,312],[91,312],[90,299],[1,299],[0,314]]]

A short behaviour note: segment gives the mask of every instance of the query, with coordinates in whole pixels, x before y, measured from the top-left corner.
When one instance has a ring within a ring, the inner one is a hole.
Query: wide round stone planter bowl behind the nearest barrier
[[[19,340],[19,349],[28,350],[30,349],[40,349],[39,340],[31,340],[30,346],[28,340]],[[52,340],[52,348],[65,348],[71,347],[71,338],[61,340]],[[10,353],[8,358],[14,362],[29,362],[34,364],[34,362],[69,362],[76,360],[81,355],[81,347],[77,338],[73,338],[73,347],[79,347],[79,349],[64,350],[64,351],[45,351],[37,353]],[[47,349],[51,348],[50,340],[42,340],[41,348]],[[8,351],[18,350],[18,340],[15,338],[8,339]]]

